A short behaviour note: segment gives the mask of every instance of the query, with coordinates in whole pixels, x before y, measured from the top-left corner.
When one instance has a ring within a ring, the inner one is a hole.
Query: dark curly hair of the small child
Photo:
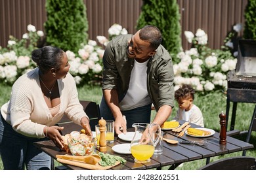
[[[175,99],[193,99],[194,100],[195,90],[190,84],[182,84],[182,86],[175,91]]]

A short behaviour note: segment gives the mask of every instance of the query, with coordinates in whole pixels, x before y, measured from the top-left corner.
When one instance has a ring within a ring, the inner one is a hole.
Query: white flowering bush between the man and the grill
[[[202,29],[196,34],[184,31],[184,35],[192,48],[177,54],[179,62],[173,65],[175,90],[182,84],[191,84],[197,92],[226,91],[226,75],[236,69],[237,59],[228,49],[208,48],[207,34]]]

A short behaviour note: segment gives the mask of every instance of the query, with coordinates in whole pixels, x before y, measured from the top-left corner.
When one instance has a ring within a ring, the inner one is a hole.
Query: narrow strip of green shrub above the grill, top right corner
[[[245,8],[245,39],[256,39],[256,0],[249,0]]]

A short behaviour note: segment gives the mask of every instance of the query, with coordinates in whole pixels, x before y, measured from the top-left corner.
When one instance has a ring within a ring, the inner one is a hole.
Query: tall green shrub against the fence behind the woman
[[[83,0],[47,0],[47,44],[77,52],[88,41],[88,21]]]

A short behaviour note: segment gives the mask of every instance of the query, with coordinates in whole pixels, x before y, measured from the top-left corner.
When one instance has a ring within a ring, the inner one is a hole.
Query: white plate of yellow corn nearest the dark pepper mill
[[[186,135],[192,136],[192,137],[210,137],[211,135],[214,135],[215,131],[213,129],[205,128],[205,127],[198,127],[193,128],[190,127],[185,131]]]

